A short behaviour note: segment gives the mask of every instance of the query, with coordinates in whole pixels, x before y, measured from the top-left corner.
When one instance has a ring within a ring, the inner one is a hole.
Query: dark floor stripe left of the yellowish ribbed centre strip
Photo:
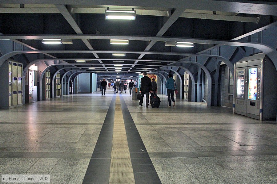
[[[114,128],[114,110],[115,110],[114,94],[94,151],[92,153],[89,166],[84,177],[84,184],[101,183],[108,184],[110,178],[110,157],[113,140]]]

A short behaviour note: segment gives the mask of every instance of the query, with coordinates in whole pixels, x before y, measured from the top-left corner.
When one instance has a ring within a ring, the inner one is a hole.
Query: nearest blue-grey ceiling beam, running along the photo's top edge
[[[4,4],[71,4],[71,5],[103,5],[103,6],[141,6],[158,8],[187,8],[191,10],[209,10],[260,15],[277,15],[276,2],[242,1],[242,0],[1,0]]]

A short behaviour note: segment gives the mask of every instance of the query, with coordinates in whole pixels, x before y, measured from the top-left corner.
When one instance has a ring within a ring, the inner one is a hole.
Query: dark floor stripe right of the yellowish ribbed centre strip
[[[134,179],[136,184],[161,184],[159,176],[153,166],[148,152],[143,144],[128,107],[120,95],[121,109],[127,134],[127,141],[131,156]]]

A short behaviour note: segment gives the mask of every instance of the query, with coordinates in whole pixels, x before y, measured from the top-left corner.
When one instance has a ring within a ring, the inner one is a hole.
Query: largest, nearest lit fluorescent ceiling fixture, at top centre
[[[108,7],[107,10],[105,10],[105,19],[119,19],[119,20],[132,20],[134,21],[136,19],[136,11],[134,11],[134,8],[132,10],[110,10]]]

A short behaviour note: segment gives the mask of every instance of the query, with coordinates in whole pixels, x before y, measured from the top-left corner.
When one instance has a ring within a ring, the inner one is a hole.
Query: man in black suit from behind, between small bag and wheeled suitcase
[[[149,92],[151,91],[151,79],[147,77],[146,71],[143,72],[144,77],[140,79],[140,93],[141,93],[141,100],[139,102],[139,105],[142,106],[143,104],[143,97],[144,94],[146,95],[146,107],[148,108],[149,105]]]

